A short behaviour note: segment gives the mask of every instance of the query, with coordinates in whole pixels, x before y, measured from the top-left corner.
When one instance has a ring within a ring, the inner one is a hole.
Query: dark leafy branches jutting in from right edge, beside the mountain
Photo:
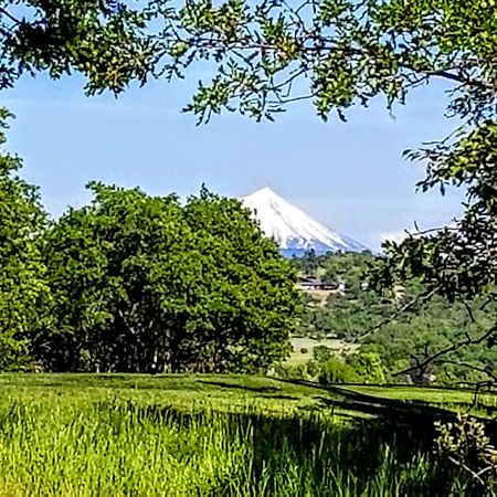
[[[450,300],[494,300],[497,283],[497,126],[485,119],[458,139],[426,147],[411,158],[427,160],[420,188],[466,189],[461,220],[440,231],[387,245],[388,257],[377,271],[378,286],[419,278],[427,292]]]

